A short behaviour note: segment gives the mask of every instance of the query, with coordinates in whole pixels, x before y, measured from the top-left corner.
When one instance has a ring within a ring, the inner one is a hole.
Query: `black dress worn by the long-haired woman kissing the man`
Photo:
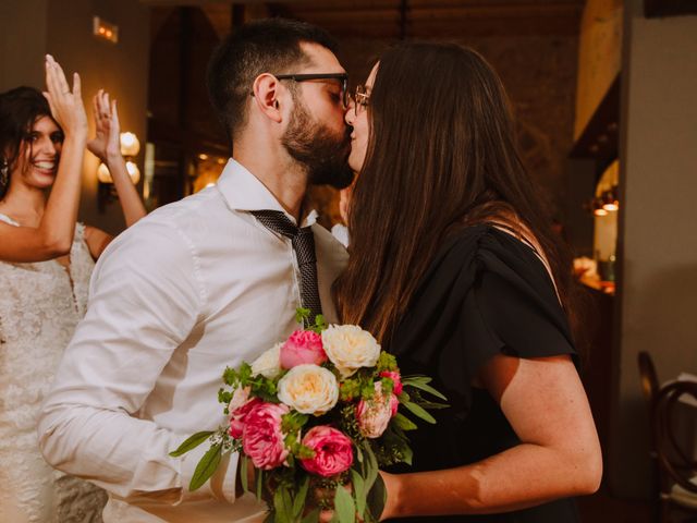
[[[540,357],[576,353],[553,283],[535,251],[491,226],[474,226],[445,242],[427,269],[400,321],[390,352],[403,375],[426,374],[448,397],[431,411],[437,425],[420,422],[408,433],[412,467],[449,469],[474,463],[519,443],[499,404],[472,387],[496,354]],[[535,481],[535,478],[530,478]],[[492,515],[403,519],[424,522],[580,521],[573,499]]]

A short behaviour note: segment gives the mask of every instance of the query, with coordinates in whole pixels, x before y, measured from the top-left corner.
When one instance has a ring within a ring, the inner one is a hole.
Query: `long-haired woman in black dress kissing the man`
[[[576,370],[571,267],[516,151],[506,97],[476,52],[384,52],[346,112],[345,323],[427,374],[450,409],[384,472],[383,519],[578,521],[601,455]],[[424,518],[425,516],[425,518]]]

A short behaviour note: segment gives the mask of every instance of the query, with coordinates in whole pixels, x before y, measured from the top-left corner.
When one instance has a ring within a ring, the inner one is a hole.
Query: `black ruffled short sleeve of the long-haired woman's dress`
[[[451,240],[414,294],[389,350],[404,374],[428,374],[466,409],[472,380],[497,354],[576,360],[547,269],[516,238],[489,226]]]

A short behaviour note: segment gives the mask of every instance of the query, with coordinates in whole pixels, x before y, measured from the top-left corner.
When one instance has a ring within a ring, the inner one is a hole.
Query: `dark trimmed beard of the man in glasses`
[[[314,122],[305,106],[296,99],[282,144],[295,161],[307,168],[310,184],[329,184],[335,188],[351,185],[350,127],[343,135],[332,134],[326,125]]]

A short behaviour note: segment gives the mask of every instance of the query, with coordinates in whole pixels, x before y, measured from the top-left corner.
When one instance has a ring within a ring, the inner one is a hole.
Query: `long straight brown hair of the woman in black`
[[[511,219],[542,247],[570,312],[570,259],[521,161],[503,85],[477,52],[418,42],[387,50],[368,118],[351,257],[334,288],[344,323],[388,343],[445,238]]]

